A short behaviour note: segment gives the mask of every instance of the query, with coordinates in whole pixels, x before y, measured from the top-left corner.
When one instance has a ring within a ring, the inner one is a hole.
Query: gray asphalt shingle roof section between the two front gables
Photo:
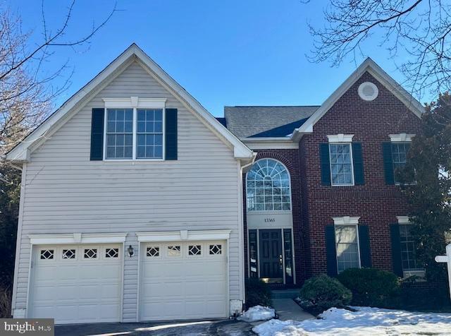
[[[226,106],[224,117],[227,128],[238,138],[249,138],[262,134],[262,136],[287,136],[314,114],[319,106]],[[293,128],[283,128],[292,124]],[[282,133],[280,133],[278,128]]]

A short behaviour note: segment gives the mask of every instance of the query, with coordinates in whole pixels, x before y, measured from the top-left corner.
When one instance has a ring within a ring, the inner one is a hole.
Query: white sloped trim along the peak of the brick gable
[[[391,78],[388,73],[383,71],[383,69],[376,64],[371,58],[365,59],[359,67],[351,73],[343,83],[338,87],[337,90],[333,92],[332,95],[326,99],[319,109],[316,109],[314,114],[312,114],[307,122],[302,124],[299,128],[296,128],[292,133],[291,139],[294,141],[299,141],[304,133],[311,133],[316,122],[321,119],[321,117],[328,112],[328,110],[333,107],[333,104],[340,99],[342,95],[351,88],[351,86],[362,77],[362,75],[368,71],[371,76],[376,78],[379,83],[385,86],[390,92],[397,97],[408,109],[410,109],[416,116],[421,118],[421,114],[424,113],[424,107],[421,103],[416,100],[409,92],[404,90],[400,84],[398,84],[393,78]]]

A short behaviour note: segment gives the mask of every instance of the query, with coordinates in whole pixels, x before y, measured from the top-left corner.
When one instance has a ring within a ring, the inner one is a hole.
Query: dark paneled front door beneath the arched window
[[[283,283],[282,237],[280,230],[259,230],[260,278]]]

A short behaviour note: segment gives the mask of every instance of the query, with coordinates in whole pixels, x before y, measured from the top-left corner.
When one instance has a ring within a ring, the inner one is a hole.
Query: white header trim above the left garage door
[[[109,244],[123,243],[126,233],[104,233],[104,234],[29,234],[32,245],[52,244]]]

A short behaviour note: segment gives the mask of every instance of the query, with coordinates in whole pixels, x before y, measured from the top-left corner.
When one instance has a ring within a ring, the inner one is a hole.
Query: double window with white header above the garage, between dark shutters
[[[106,160],[163,159],[166,100],[131,97],[104,101]]]

